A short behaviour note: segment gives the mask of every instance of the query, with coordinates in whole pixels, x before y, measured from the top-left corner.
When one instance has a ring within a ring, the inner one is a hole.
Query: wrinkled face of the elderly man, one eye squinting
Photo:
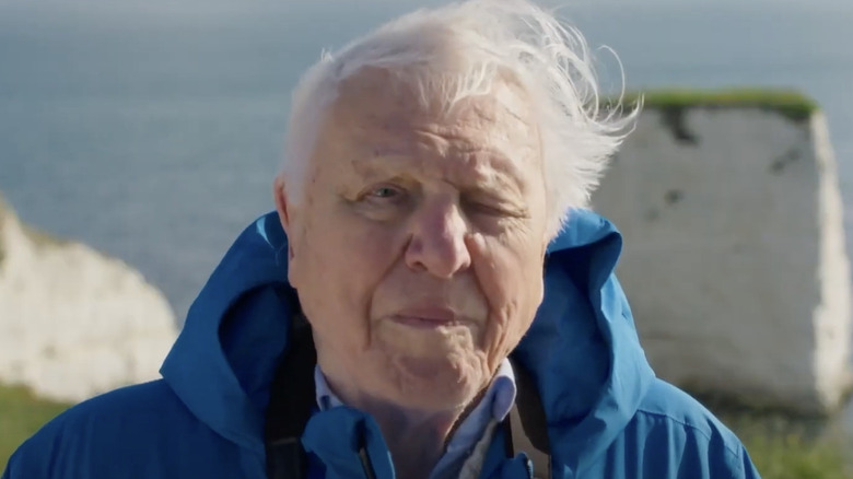
[[[363,71],[322,127],[302,201],[288,203],[277,180],[290,282],[344,400],[464,406],[541,302],[546,200],[529,106],[496,81],[491,96],[436,109]]]

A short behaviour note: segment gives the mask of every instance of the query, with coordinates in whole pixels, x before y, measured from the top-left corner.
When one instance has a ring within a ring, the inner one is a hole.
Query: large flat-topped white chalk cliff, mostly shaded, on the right
[[[656,373],[828,412],[850,387],[851,279],[819,112],[647,107],[593,198]]]

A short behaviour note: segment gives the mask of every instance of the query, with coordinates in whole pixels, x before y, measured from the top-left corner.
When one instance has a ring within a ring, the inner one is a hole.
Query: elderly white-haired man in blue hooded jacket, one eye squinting
[[[656,379],[584,210],[633,115],[525,1],[400,17],[296,87],[277,213],[236,241],[163,379],[63,413],[19,478],[751,478]]]

